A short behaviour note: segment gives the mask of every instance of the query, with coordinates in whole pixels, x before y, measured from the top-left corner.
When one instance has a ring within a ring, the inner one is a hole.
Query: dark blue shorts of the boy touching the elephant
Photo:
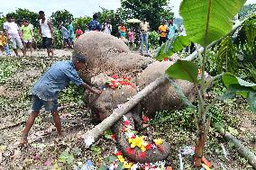
[[[44,101],[41,100],[38,96],[32,95],[32,111],[39,112],[41,107],[44,106],[44,110],[47,112],[56,112],[58,111],[58,101]]]

